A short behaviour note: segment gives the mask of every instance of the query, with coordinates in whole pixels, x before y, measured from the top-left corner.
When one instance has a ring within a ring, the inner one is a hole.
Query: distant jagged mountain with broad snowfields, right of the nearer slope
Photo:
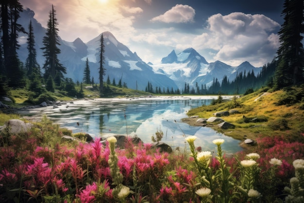
[[[253,67],[249,62],[243,62],[237,67],[229,66],[223,62],[215,61],[208,63],[203,56],[198,54],[193,48],[188,48],[176,55],[173,50],[168,56],[162,58],[160,64],[152,65],[155,72],[164,73],[175,81],[179,88],[184,88],[185,83],[194,86],[199,85],[210,86],[213,78],[218,78],[219,82],[224,75],[231,81],[236,78],[236,74],[240,72],[254,72],[257,74],[261,68]]]

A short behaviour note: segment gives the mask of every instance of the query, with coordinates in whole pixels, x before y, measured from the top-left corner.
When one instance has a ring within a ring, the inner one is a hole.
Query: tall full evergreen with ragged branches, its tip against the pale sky
[[[66,68],[60,63],[58,55],[60,54],[60,49],[58,46],[59,36],[57,28],[58,22],[56,18],[56,11],[52,5],[52,9],[49,15],[49,21],[47,25],[46,36],[43,37],[43,45],[41,49],[43,50],[43,56],[46,58],[43,68],[45,69],[44,78],[48,78],[49,75],[55,78],[56,74],[59,74],[60,78],[64,78],[63,74],[67,74]]]

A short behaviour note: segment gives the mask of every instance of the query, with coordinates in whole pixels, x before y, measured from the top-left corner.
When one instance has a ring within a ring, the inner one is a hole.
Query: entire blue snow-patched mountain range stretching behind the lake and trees
[[[42,67],[44,57],[41,48],[44,46],[42,38],[45,36],[46,28],[34,18],[34,11],[25,9],[21,14],[18,22],[27,30],[30,20],[35,36],[35,48],[37,52],[37,62]],[[60,23],[60,22],[59,22]],[[261,67],[253,67],[249,62],[243,62],[237,67],[229,66],[220,61],[208,63],[193,48],[188,48],[183,52],[176,54],[173,50],[168,56],[162,58],[159,64],[146,63],[130,49],[120,43],[110,32],[102,33],[105,44],[105,73],[104,80],[109,76],[112,81],[118,82],[119,79],[126,83],[128,88],[145,90],[148,82],[153,87],[179,88],[182,90],[185,83],[194,86],[206,84],[210,86],[214,78],[222,80],[227,75],[229,80],[233,80],[237,73],[246,73],[254,71],[255,74],[261,71]],[[66,77],[72,78],[75,82],[82,81],[84,75],[85,61],[88,58],[90,74],[94,81],[99,81],[98,69],[100,66],[100,37],[101,34],[87,43],[80,38],[73,42],[68,42],[59,37],[61,54],[58,55],[60,62],[67,68]],[[27,35],[19,34],[20,49],[18,50],[19,59],[22,62],[27,58]],[[140,53],[139,53],[140,55]],[[43,70],[42,70],[43,71]]]

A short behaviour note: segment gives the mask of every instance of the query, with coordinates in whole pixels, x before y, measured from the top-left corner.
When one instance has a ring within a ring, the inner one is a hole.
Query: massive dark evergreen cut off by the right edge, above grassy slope
[[[280,89],[304,81],[304,2],[285,0],[282,15],[284,23],[279,31],[281,46],[277,51],[278,67],[274,88]]]

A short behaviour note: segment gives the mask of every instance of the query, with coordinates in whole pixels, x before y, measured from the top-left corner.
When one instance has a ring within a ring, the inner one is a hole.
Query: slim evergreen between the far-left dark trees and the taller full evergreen
[[[32,20],[29,24],[29,32],[27,38],[27,49],[28,57],[26,59],[25,68],[27,70],[27,75],[31,75],[33,72],[40,75],[40,67],[36,60],[36,49],[35,49],[35,37],[33,32]]]

